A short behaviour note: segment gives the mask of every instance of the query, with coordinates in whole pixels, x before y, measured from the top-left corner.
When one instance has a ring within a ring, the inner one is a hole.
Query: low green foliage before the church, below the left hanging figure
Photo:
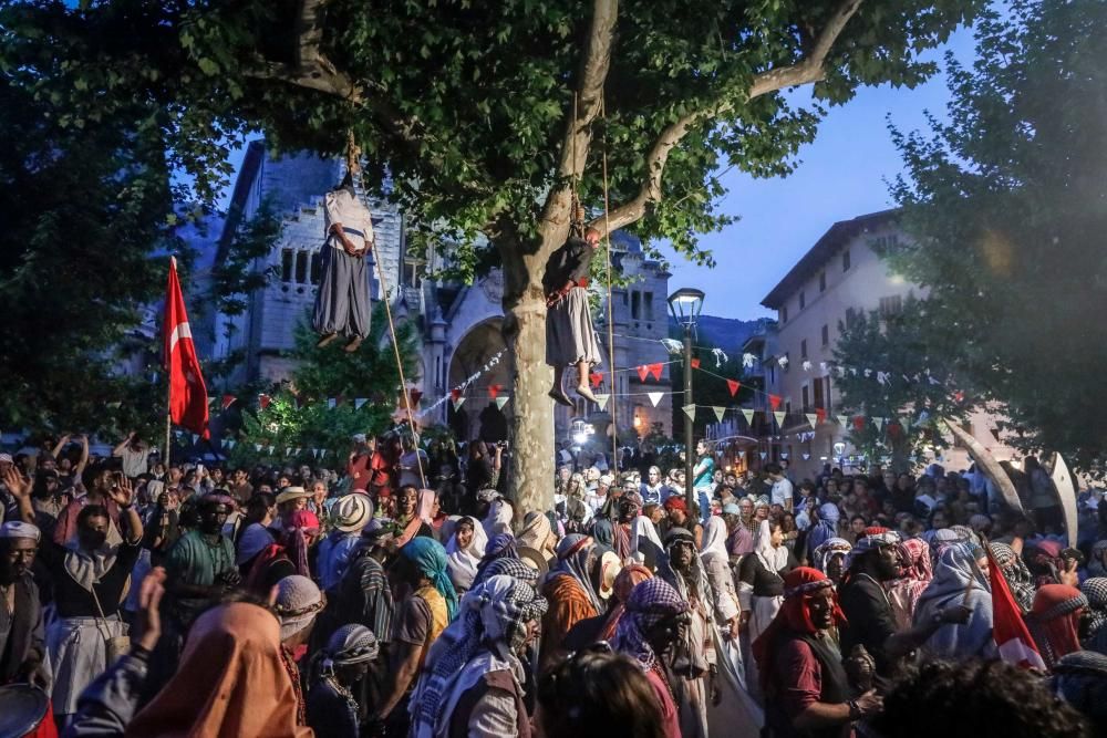
[[[356,433],[381,434],[392,425],[400,392],[400,373],[396,367],[392,340],[389,336],[384,308],[373,311],[370,332],[361,347],[348,354],[342,342],[317,349],[318,335],[300,325],[296,333],[296,349],[290,357],[298,364],[290,382],[270,392],[271,402],[265,409],[241,414],[239,441],[230,451],[234,464],[256,460],[311,462],[311,449],[323,448],[339,456],[324,457],[342,460],[350,448],[350,438]],[[396,329],[404,378],[414,381],[417,375],[417,336],[411,323]],[[338,402],[328,406],[328,399]],[[354,407],[355,398],[368,402]],[[256,450],[261,445],[262,451]],[[268,447],[275,447],[272,456]],[[288,448],[299,448],[298,456],[288,456]]]

